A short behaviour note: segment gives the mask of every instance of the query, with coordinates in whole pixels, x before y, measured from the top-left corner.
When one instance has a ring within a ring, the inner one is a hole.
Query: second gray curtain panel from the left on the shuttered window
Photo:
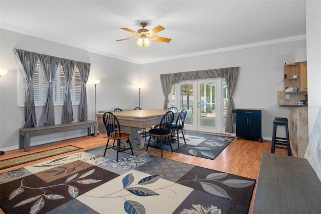
[[[48,82],[46,103],[44,110],[43,123],[45,125],[54,125],[55,124],[55,110],[54,110],[54,98],[53,98],[53,86],[60,58],[48,55],[40,55],[40,64],[43,67],[44,75],[46,81]]]

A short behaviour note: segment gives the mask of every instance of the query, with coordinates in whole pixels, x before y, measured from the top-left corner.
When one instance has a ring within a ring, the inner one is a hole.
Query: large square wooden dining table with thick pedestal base
[[[123,112],[112,112],[119,121],[119,126],[123,130],[122,132],[130,134],[130,143],[133,149],[134,155],[140,157],[146,157],[147,151],[144,150],[145,139],[140,135],[142,128],[151,127],[161,123],[163,116],[169,110],[164,109],[145,109],[145,110],[131,110]],[[180,114],[179,110],[173,110],[175,119]],[[97,113],[98,132],[100,134],[107,134],[103,123],[104,113]],[[174,120],[175,120],[174,119]],[[123,142],[124,143],[124,142]],[[129,147],[128,143],[125,143],[125,147]]]

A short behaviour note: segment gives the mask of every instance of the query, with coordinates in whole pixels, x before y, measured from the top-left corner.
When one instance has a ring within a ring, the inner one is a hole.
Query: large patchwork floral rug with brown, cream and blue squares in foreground
[[[5,213],[248,213],[255,180],[104,147],[0,174]]]

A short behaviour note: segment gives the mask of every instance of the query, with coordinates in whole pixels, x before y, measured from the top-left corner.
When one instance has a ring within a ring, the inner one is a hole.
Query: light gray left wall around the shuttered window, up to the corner
[[[25,124],[24,108],[18,107],[18,70],[13,49],[48,54],[61,58],[91,63],[87,84],[88,120],[94,120],[93,79],[100,79],[97,85],[96,111],[112,107],[134,108],[138,105],[138,65],[105,57],[77,48],[56,44],[30,36],[0,29],[0,67],[8,69],[0,79],[0,149],[19,147],[19,128]],[[136,91],[137,89],[137,91]],[[43,107],[36,107],[37,122],[42,120]],[[78,105],[73,105],[74,121],[78,121]],[[55,107],[56,123],[61,122],[61,106]],[[41,122],[39,123],[41,124]],[[31,145],[59,141],[86,135],[86,130],[39,136],[31,138]]]

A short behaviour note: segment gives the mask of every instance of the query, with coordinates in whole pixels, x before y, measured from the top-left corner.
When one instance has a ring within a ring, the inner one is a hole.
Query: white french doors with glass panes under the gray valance
[[[224,133],[227,103],[223,78],[184,81],[173,85],[172,105],[189,114],[186,130]]]

